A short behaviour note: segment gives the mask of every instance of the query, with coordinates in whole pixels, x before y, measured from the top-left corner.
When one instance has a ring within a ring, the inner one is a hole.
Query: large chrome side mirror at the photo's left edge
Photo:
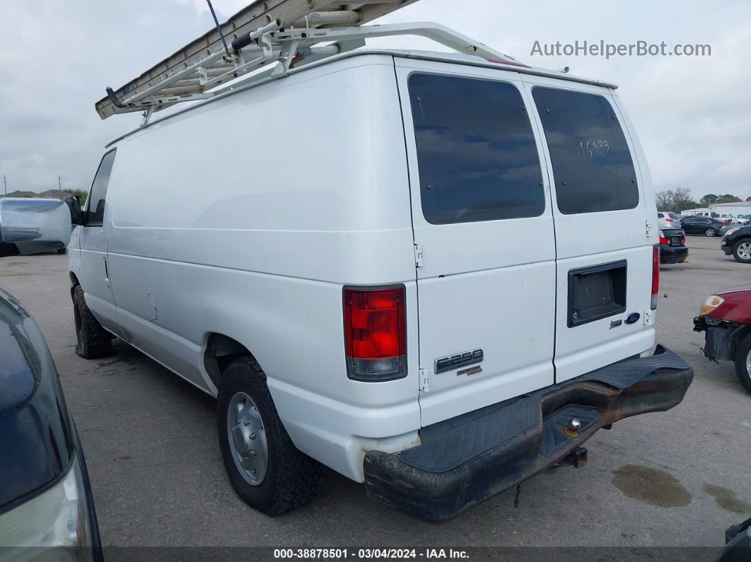
[[[64,201],[0,199],[0,257],[59,250],[70,241],[71,209]]]

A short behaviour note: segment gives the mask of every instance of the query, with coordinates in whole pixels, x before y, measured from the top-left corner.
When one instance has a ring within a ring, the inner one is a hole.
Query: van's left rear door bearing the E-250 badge
[[[395,65],[430,425],[553,383],[553,217],[517,73]]]

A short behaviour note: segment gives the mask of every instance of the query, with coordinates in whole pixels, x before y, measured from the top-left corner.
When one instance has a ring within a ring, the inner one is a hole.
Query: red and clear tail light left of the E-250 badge
[[[405,288],[344,287],[347,376],[382,381],[406,377]]]

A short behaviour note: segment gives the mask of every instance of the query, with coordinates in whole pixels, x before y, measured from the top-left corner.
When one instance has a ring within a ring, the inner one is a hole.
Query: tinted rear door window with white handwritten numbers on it
[[[602,95],[532,89],[555,177],[560,212],[633,209],[634,163],[613,107]]]

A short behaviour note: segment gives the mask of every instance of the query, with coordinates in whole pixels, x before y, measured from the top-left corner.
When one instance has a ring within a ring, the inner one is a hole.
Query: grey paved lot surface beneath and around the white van
[[[659,341],[695,368],[668,413],[599,431],[587,467],[563,467],[445,524],[368,500],[328,472],[312,505],[278,518],[247,507],[225,477],[214,401],[146,356],[74,353],[65,256],[5,258],[0,287],[34,314],[59,368],[92,477],[105,545],[720,545],[751,515],[751,396],[733,367],[702,358],[692,317],[710,293],[748,282],[751,266],[689,238],[691,261],[663,266]]]

